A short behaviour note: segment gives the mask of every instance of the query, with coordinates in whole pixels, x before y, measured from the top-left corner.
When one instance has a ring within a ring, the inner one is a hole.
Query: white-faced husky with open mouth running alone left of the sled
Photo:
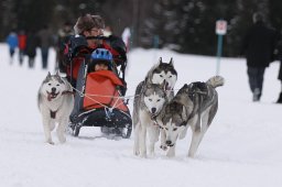
[[[42,114],[45,140],[50,144],[52,141],[51,132],[57,123],[57,138],[61,143],[66,142],[64,136],[69,114],[74,108],[74,96],[70,84],[56,73],[47,74],[43,80],[39,94],[37,106]]]

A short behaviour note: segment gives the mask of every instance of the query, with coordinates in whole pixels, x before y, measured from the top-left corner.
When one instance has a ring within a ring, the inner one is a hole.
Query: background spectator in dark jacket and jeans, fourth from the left
[[[39,32],[39,40],[42,56],[42,68],[46,69],[48,65],[48,48],[53,43],[52,33],[47,25],[44,25],[43,29]]]

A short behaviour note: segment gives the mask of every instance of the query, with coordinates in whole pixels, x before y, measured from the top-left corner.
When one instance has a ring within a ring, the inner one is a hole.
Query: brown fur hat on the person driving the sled
[[[89,31],[93,28],[104,29],[105,23],[100,15],[85,14],[77,19],[74,26],[75,34],[82,34],[84,31]]]

